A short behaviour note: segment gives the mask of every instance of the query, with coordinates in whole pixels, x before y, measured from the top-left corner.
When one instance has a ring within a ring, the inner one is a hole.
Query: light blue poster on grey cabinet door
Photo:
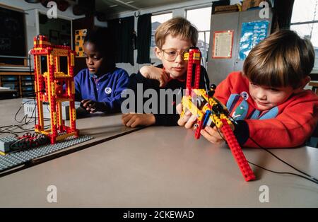
[[[267,36],[269,21],[242,23],[241,30],[239,59],[244,60],[252,48]]]

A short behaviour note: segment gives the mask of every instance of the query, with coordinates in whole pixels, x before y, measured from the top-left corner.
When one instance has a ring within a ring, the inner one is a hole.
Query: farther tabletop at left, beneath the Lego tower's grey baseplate
[[[22,105],[22,99],[12,99],[12,100],[0,100],[0,127],[2,126],[10,126],[10,125],[16,125],[16,124],[23,124],[25,121],[21,120],[24,116],[24,111]],[[18,112],[18,109],[21,107],[20,111]],[[18,115],[16,113],[18,112]],[[14,118],[16,115],[16,119]],[[34,163],[41,163],[43,161],[47,161],[51,158],[56,158],[59,156],[66,155],[68,153],[78,151],[82,148],[87,148],[89,146],[93,146],[91,144],[100,144],[104,141],[114,139],[117,136],[122,136],[125,134],[128,134],[129,132],[134,132],[139,129],[132,129],[128,127],[124,127],[122,125],[121,120],[122,115],[115,114],[115,115],[105,115],[103,113],[95,113],[93,115],[88,115],[84,118],[76,119],[76,129],[79,129],[80,136],[82,135],[88,135],[93,136],[93,139],[83,142],[81,144],[77,144],[75,146],[71,146],[69,148],[65,148],[61,151],[58,151],[56,153],[51,153],[48,156],[38,158],[36,160],[33,160]],[[17,122],[19,121],[19,122]],[[29,122],[30,121],[30,122]],[[28,124],[24,124],[22,127],[23,129],[33,129],[34,128],[34,118],[27,119]],[[45,121],[45,124],[49,125],[49,119]],[[66,124],[68,124],[68,121],[66,121]],[[14,127],[10,128],[14,132],[21,132],[22,130]],[[12,134],[4,134],[1,133],[4,128],[0,129],[0,136],[11,136]],[[32,133],[32,132],[31,132]],[[23,133],[20,133],[19,135],[22,135]],[[32,163],[31,165],[33,165]],[[30,165],[30,163],[28,163]],[[20,170],[21,168],[25,168],[25,166],[18,166],[16,169],[10,169],[8,172],[0,173],[0,177],[3,174],[11,173],[13,170]]]

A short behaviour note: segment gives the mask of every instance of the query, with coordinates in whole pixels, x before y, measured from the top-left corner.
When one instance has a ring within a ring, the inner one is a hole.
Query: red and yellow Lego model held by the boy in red
[[[233,123],[230,121],[227,108],[216,98],[213,98],[216,87],[211,86],[211,88],[199,89],[201,69],[201,52],[199,48],[190,48],[189,52],[184,54],[184,60],[188,60],[188,69],[186,95],[182,98],[181,117],[184,116],[184,112],[187,110],[192,112],[192,115],[196,115],[197,122],[194,135],[196,139],[200,138],[201,129],[204,129],[207,125],[215,125],[220,129],[245,180],[254,180],[255,175],[232,132]]]

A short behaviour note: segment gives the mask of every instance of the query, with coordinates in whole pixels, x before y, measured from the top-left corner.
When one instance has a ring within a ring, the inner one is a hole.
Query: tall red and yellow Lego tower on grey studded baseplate
[[[35,132],[26,131],[23,136],[0,138],[0,173],[93,139],[92,136],[78,136],[76,129],[74,52],[70,47],[53,46],[47,41],[47,37],[38,35],[34,38],[34,48],[30,53],[34,55],[35,67],[36,103],[30,115],[32,117],[37,108]],[[61,57],[64,57],[67,64],[63,66],[67,69],[64,72],[61,71]],[[44,103],[49,105],[50,128],[44,124]],[[65,125],[65,118],[62,118],[62,103],[69,104],[69,126]]]

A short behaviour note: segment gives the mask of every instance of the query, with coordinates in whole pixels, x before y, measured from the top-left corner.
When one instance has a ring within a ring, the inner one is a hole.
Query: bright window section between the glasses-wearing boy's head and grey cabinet
[[[211,10],[212,7],[187,10],[187,20],[190,21],[199,31],[197,47],[201,50],[204,61],[206,61],[206,57],[208,56]]]

